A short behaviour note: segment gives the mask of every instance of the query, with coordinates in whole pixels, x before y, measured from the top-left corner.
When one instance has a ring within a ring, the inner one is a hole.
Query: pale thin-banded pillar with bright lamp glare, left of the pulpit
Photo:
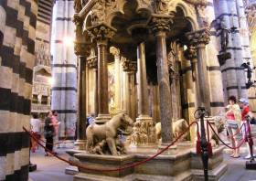
[[[73,1],[56,0],[52,24],[52,101],[59,112],[59,138],[72,138],[77,121],[77,59],[74,54]]]

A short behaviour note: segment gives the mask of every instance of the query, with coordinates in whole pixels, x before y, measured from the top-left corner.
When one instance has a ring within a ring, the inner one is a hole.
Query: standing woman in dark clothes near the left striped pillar
[[[53,149],[53,137],[55,135],[55,129],[52,123],[52,112],[48,112],[48,116],[45,120],[44,135],[46,138],[45,155],[48,156],[48,152],[52,152]]]

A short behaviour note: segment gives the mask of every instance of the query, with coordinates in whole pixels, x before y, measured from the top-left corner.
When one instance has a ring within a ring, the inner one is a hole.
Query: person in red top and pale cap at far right
[[[249,146],[248,139],[247,139],[247,135],[248,135],[248,133],[247,133],[248,127],[247,126],[248,125],[246,123],[246,116],[248,116],[248,115],[251,116],[251,110],[249,107],[249,101],[247,99],[241,98],[239,101],[239,104],[240,104],[240,109],[241,109],[241,120],[244,123],[244,126],[242,128],[242,135],[243,135],[243,139],[245,139],[245,143],[247,145],[247,151],[248,151],[247,156],[245,156],[244,158],[250,159],[251,154],[250,154],[250,146]]]

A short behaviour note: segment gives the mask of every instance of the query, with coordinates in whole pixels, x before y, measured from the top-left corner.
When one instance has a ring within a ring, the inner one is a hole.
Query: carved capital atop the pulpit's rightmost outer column
[[[200,29],[194,32],[187,33],[187,38],[190,41],[190,45],[193,46],[205,46],[209,43],[210,32],[208,28]]]

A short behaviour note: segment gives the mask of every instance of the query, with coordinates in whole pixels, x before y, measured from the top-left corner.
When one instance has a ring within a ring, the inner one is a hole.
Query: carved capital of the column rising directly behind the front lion
[[[96,41],[101,41],[111,39],[114,36],[116,29],[102,23],[95,27],[89,27],[87,31],[92,39],[95,39]]]

